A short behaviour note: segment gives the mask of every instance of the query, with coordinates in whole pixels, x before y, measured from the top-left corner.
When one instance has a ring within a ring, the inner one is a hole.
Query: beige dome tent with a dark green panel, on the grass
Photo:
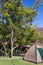
[[[31,48],[25,54],[24,60],[32,61],[35,63],[43,62],[43,45],[38,42],[31,46]]]

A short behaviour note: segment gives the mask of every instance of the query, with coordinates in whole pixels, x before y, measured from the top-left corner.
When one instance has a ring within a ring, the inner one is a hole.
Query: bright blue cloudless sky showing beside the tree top
[[[22,0],[24,7],[33,6],[36,0]],[[0,5],[1,8],[1,5]],[[38,9],[39,14],[37,15],[37,19],[33,21],[33,25],[37,24],[37,27],[43,27],[43,4]]]

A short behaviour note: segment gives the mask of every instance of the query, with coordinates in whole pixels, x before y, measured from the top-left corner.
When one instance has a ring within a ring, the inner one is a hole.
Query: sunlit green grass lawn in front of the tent
[[[17,59],[4,59],[0,58],[0,65],[43,65],[43,63],[35,64],[32,62],[24,61],[22,57]]]

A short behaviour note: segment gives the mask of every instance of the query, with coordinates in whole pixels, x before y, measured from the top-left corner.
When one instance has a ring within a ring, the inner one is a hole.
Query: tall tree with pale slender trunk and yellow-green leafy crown
[[[26,33],[29,30],[27,29],[26,24],[29,24],[31,28],[37,11],[34,10],[33,7],[25,8],[22,4],[22,0],[6,0],[2,3],[2,14],[4,20],[6,20],[6,25],[11,32],[11,57],[13,57],[15,40],[18,40],[19,46],[25,44],[26,39],[28,38]],[[13,41],[14,38],[15,40]]]

